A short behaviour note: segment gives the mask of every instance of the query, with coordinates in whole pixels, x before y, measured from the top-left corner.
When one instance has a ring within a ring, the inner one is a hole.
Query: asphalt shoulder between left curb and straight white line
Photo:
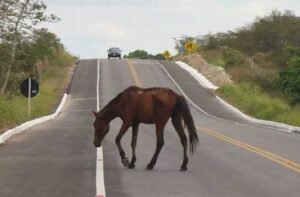
[[[95,196],[91,110],[96,108],[96,63],[80,62],[57,118],[0,146],[1,197]]]

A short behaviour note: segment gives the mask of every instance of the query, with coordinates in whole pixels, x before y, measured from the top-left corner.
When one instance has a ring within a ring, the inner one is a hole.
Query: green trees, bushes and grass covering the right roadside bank
[[[299,32],[300,17],[274,10],[234,31],[183,38],[176,48],[191,40],[208,63],[222,66],[234,84],[216,93],[244,113],[300,126]]]

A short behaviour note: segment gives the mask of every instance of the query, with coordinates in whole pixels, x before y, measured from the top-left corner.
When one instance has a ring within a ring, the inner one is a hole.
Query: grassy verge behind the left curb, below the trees
[[[64,66],[49,65],[42,74],[39,94],[31,99],[31,119],[51,114],[67,90],[74,70],[73,58],[63,59]],[[28,100],[19,92],[0,97],[0,133],[28,121]]]

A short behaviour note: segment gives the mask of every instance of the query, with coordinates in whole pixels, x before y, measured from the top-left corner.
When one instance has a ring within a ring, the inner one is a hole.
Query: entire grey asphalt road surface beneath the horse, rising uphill
[[[170,123],[154,170],[145,170],[155,150],[153,125],[140,126],[136,168],[125,169],[114,143],[121,121],[113,120],[103,142],[106,196],[299,196],[300,170],[291,163],[300,163],[299,134],[251,124],[218,103],[174,63],[161,65],[196,105],[214,117],[191,106],[200,144],[189,155],[187,172],[179,171],[182,147]],[[100,67],[100,107],[137,83],[179,92],[155,61],[130,60],[129,66],[125,60],[101,59]],[[96,150],[90,111],[96,109],[96,78],[97,60],[81,60],[61,114],[0,147],[1,197],[95,196]],[[122,140],[129,157],[130,139],[131,130]]]

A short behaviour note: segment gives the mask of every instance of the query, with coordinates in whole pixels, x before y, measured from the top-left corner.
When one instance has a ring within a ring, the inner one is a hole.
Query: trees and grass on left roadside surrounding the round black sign
[[[42,1],[0,2],[0,133],[28,120],[27,98],[20,83],[33,77],[40,84],[32,98],[31,119],[52,113],[68,83],[75,58],[42,22],[57,22],[46,15]]]

